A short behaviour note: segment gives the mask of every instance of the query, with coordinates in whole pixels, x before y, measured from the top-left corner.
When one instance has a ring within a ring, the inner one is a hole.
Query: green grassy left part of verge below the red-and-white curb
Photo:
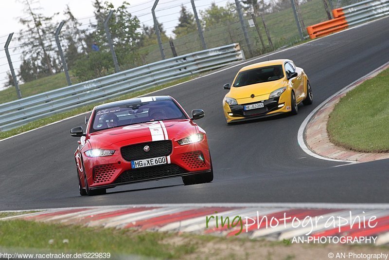
[[[174,245],[163,240],[172,234],[113,228],[90,228],[23,220],[0,222],[0,245],[60,252],[135,254],[160,259],[180,258],[196,250],[195,244]],[[49,243],[53,240],[53,243]],[[63,240],[68,240],[64,243]]]

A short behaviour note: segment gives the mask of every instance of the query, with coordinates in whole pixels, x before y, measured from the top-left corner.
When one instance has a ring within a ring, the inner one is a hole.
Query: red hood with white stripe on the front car
[[[106,129],[89,134],[92,149],[120,149],[122,146],[151,141],[182,139],[196,133],[189,119],[154,121]]]

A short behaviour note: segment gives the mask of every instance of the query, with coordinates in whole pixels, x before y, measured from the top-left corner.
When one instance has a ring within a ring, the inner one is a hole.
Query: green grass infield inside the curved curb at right
[[[327,131],[338,146],[362,152],[389,152],[389,69],[342,97]]]

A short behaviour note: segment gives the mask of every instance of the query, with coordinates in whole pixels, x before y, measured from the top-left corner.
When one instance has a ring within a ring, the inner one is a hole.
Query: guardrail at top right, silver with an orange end
[[[311,39],[329,35],[358,23],[389,15],[389,0],[366,0],[334,9],[334,19],[307,27]]]

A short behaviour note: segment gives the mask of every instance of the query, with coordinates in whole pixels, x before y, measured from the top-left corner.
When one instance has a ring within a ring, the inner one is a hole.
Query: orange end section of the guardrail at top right
[[[339,8],[342,9],[342,8]],[[334,9],[334,11],[337,9]],[[320,22],[307,27],[307,32],[311,39],[326,36],[341,30],[344,30],[348,27],[346,18],[344,16],[331,19],[328,21]]]

